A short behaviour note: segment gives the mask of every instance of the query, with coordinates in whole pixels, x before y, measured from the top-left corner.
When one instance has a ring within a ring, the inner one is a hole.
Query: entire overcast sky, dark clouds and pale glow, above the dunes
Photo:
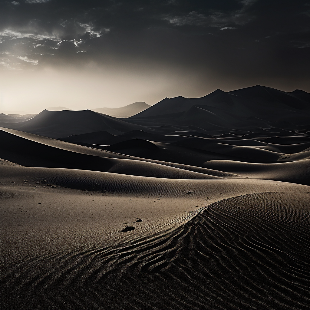
[[[306,0],[0,0],[0,42],[0,110],[310,92]]]

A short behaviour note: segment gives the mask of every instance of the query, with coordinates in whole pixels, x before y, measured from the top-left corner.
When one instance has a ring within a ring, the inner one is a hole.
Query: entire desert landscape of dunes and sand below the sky
[[[310,94],[59,108],[0,114],[2,308],[309,309]]]

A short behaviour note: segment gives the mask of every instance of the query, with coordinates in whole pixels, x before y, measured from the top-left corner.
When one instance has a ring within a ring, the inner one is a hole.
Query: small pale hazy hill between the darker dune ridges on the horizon
[[[128,104],[125,107],[121,108],[97,108],[97,109],[91,109],[92,111],[106,114],[113,117],[131,117],[137,113],[140,113],[147,108],[149,108],[150,105],[146,104],[145,102],[135,102],[132,104]]]

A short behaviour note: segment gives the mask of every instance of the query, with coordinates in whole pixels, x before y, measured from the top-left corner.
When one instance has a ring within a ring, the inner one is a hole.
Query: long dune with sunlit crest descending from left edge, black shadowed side
[[[0,129],[0,136],[5,145],[0,150],[0,156],[24,166],[110,171],[171,179],[221,179],[221,176],[226,175],[234,177],[230,173],[145,160],[5,128]]]

